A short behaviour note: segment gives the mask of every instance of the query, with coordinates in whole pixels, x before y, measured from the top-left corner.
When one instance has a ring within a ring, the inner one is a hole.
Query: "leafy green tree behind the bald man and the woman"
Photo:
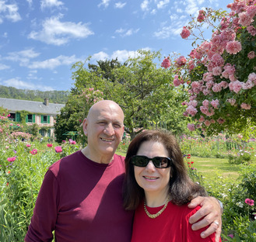
[[[87,69],[86,63],[78,62],[72,67],[74,89],[99,89],[103,99],[121,105],[125,131],[131,137],[153,122],[179,125],[181,129],[184,119],[178,106],[184,92],[182,88],[174,90],[170,85],[172,74],[157,67],[156,59],[160,60],[160,52],[138,50],[137,57],[128,58],[124,64],[118,64],[117,60],[101,61],[99,66],[88,65],[90,69]]]

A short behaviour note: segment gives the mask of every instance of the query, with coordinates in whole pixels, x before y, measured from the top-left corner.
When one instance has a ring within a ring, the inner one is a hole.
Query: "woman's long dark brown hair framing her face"
[[[125,177],[123,187],[124,209],[133,210],[139,206],[144,199],[144,190],[135,180],[134,165],[132,156],[138,153],[139,147],[143,142],[156,141],[163,144],[167,149],[169,157],[173,160],[170,167],[170,195],[174,204],[182,205],[191,201],[198,195],[207,195],[202,186],[191,181],[188,176],[187,168],[184,164],[181,148],[176,138],[162,130],[145,130],[139,133],[128,147],[124,160]]]

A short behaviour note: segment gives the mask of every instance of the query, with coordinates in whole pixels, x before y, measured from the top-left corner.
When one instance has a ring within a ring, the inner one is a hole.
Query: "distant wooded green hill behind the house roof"
[[[17,89],[0,85],[0,98],[5,99],[21,99],[37,102],[44,102],[49,99],[51,103],[65,104],[68,101],[68,91],[38,91],[28,89]]]

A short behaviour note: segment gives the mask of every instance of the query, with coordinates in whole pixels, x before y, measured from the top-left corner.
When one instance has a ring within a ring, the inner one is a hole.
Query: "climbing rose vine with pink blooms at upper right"
[[[200,10],[181,32],[195,40],[192,47],[199,44],[188,57],[163,60],[174,71],[174,86],[188,92],[182,105],[191,131],[246,133],[256,125],[256,1],[235,0],[227,8]],[[210,40],[205,26],[212,29]]]

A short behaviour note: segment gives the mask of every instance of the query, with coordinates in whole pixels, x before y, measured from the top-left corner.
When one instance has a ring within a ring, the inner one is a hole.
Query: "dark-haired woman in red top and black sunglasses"
[[[188,177],[181,149],[169,133],[146,130],[130,143],[125,157],[124,208],[136,209],[132,242],[209,242],[202,230],[191,230],[190,216],[200,207],[188,202],[206,195]]]

